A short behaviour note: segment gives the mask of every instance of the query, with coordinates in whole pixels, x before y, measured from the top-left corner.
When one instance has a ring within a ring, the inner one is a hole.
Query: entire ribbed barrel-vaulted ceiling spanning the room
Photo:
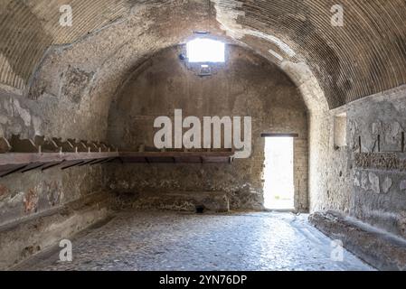
[[[0,82],[28,91],[33,76],[50,59],[50,51],[58,47],[67,49],[87,41],[94,48],[90,53],[98,55],[79,57],[83,63],[114,67],[115,54],[108,51],[115,43],[124,47],[139,38],[148,48],[132,46],[139,60],[201,28],[227,33],[282,69],[287,63],[305,63],[331,108],[406,83],[406,1],[339,2],[344,7],[344,27],[331,25],[335,0],[1,0]],[[73,9],[72,27],[59,24],[59,7],[66,4]],[[123,23],[127,23],[126,33]],[[111,26],[116,29],[104,35],[110,42],[106,46],[98,42],[98,35]],[[131,33],[131,28],[137,33]],[[148,41],[149,34],[154,37]]]

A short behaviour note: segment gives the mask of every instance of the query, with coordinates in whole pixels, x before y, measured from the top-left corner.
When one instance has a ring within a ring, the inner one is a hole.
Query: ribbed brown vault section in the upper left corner
[[[74,29],[60,25],[61,5],[74,9]],[[51,45],[75,42],[128,14],[126,1],[0,1],[0,81],[23,89]]]

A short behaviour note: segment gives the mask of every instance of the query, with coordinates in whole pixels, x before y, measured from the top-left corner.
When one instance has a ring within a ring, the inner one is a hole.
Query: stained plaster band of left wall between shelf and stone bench
[[[101,166],[17,173],[0,179],[0,226],[106,191]]]

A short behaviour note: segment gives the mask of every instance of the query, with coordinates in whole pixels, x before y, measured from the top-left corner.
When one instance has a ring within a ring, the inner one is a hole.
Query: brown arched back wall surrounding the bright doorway
[[[109,143],[136,151],[140,144],[155,146],[155,118],[183,109],[184,117],[201,119],[252,117],[250,159],[232,165],[111,165],[114,190],[224,191],[231,209],[261,209],[265,141],[260,134],[297,133],[295,208],[307,210],[307,109],[295,85],[268,61],[234,46],[224,67],[202,78],[179,61],[182,49],[156,54],[127,80],[110,111]]]

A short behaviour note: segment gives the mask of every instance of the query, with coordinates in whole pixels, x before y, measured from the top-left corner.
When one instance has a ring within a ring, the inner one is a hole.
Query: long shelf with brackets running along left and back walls
[[[102,163],[232,163],[235,152],[227,151],[162,151],[118,152],[108,144],[61,139],[21,140],[13,136],[8,142],[0,138],[0,177],[33,170],[60,167],[66,170],[75,166]]]

